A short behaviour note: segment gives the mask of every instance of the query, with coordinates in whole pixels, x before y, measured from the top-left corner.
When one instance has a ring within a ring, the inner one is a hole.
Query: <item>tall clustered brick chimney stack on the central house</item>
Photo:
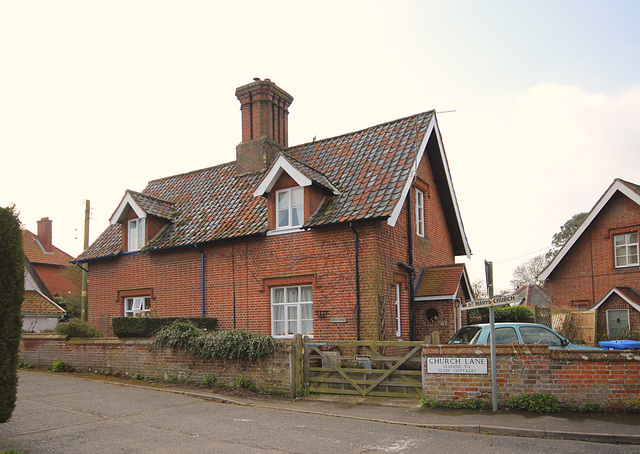
[[[236,89],[242,112],[242,142],[236,147],[238,175],[267,170],[287,148],[289,106],[293,97],[269,79],[253,79]]]

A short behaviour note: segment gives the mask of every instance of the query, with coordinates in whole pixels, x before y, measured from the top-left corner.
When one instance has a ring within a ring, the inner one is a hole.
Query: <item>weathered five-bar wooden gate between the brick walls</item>
[[[310,393],[422,396],[423,342],[319,342],[304,339]]]

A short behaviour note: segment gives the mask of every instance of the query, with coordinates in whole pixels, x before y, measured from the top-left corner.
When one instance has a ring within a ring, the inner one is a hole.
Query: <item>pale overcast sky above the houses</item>
[[[235,88],[289,144],[436,109],[472,281],[497,290],[614,178],[640,183],[637,1],[0,3],[0,206],[82,250],[126,189],[233,161]]]

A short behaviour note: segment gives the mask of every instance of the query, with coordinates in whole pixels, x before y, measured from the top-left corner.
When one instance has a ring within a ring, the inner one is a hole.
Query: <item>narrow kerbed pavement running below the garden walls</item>
[[[42,371],[26,370],[21,370],[19,373],[21,375],[47,374]],[[48,374],[53,373],[49,372]],[[272,395],[221,394],[201,388],[113,377],[105,378],[99,375],[73,373],[65,375],[75,376],[81,380],[154,389],[159,392],[188,395],[233,405],[287,412],[469,433],[640,445],[640,414],[638,413],[533,414],[508,410],[493,412],[491,410],[434,409],[420,408],[417,399],[362,398],[337,395],[311,395],[294,400]]]

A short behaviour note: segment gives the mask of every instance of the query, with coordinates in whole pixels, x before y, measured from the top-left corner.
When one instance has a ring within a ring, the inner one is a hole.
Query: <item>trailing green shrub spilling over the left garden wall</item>
[[[158,331],[152,349],[182,348],[201,360],[228,358],[253,361],[272,354],[282,345],[282,341],[265,334],[244,330],[206,331],[190,321],[176,320]]]

